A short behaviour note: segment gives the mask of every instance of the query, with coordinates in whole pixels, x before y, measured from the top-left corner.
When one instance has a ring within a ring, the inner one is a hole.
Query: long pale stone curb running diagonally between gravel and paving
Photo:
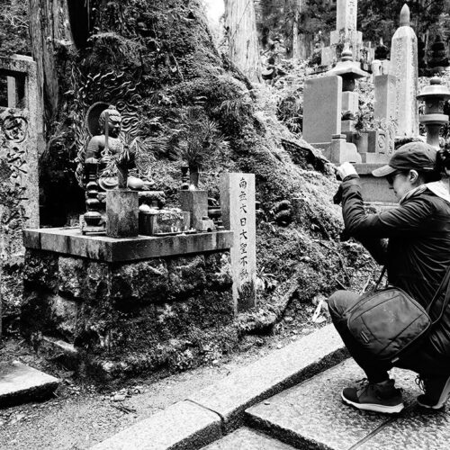
[[[337,365],[347,351],[332,325],[238,369],[200,392],[92,447],[93,450],[201,448],[243,424],[250,406]]]

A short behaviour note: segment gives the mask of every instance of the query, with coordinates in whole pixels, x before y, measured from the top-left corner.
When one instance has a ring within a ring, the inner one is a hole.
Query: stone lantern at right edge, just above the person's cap
[[[425,102],[425,112],[419,117],[419,122],[427,128],[427,142],[439,148],[439,130],[448,121],[444,114],[444,102],[450,98],[450,91],[442,84],[442,79],[435,76],[430,84],[425,86],[418,95],[418,100]]]

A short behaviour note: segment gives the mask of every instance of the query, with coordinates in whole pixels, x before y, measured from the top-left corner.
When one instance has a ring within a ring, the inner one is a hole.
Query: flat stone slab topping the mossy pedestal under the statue
[[[232,231],[214,231],[166,237],[138,236],[109,238],[83,236],[78,228],[25,229],[23,245],[74,257],[88,257],[105,262],[137,261],[228,249]]]

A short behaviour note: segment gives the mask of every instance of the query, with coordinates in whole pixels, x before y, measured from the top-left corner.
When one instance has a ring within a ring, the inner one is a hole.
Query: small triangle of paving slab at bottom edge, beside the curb
[[[205,446],[203,450],[293,450],[293,448],[259,431],[244,427]]]

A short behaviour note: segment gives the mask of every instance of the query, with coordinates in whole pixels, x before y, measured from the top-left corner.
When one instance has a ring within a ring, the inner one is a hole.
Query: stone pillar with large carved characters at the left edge
[[[23,262],[23,229],[39,226],[36,63],[0,58],[0,76],[8,93],[7,106],[0,107],[0,300],[14,303],[14,289],[5,288],[8,268]]]

